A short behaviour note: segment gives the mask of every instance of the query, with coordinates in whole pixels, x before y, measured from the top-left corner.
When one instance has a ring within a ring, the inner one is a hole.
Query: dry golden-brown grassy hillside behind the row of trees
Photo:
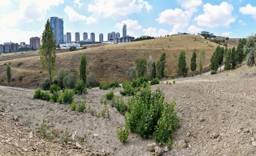
[[[209,42],[198,35],[176,35],[117,45],[95,44],[87,46],[88,49],[85,50],[73,52],[57,51],[56,73],[62,67],[78,73],[80,56],[86,54],[87,73],[94,72],[99,82],[122,82],[127,80],[125,71],[135,66],[134,60],[137,57],[148,58],[149,55],[152,55],[153,60],[157,62],[161,54],[165,52],[167,75],[169,77],[175,77],[178,55],[181,50],[186,51],[186,63],[187,67],[189,67],[192,52],[195,50],[197,56],[199,56],[199,50],[204,47],[206,51],[204,70],[208,70],[211,55],[218,44]],[[44,78],[47,77],[46,71],[40,73],[39,58],[37,52],[1,55],[0,80],[3,79],[2,84],[7,84],[6,66],[10,64],[12,77],[15,79],[11,82],[11,86],[31,89],[37,88]],[[198,61],[197,59],[197,63]],[[22,64],[18,66],[18,63]],[[22,81],[18,80],[19,74],[24,75]]]

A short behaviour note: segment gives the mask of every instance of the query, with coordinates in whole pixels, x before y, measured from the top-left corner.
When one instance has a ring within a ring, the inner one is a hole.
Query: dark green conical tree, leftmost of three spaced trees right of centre
[[[187,70],[188,70],[188,68],[186,67],[186,53],[184,50],[181,50],[181,52],[179,53],[179,58],[178,58],[177,73],[179,76],[186,77]]]

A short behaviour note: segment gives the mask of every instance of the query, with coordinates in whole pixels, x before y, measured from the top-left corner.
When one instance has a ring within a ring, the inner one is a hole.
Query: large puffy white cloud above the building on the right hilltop
[[[207,3],[203,5],[203,10],[204,14],[200,14],[194,18],[199,26],[209,28],[217,28],[219,26],[228,27],[236,20],[232,15],[232,11],[234,10],[233,5],[227,2],[222,2],[220,5]]]

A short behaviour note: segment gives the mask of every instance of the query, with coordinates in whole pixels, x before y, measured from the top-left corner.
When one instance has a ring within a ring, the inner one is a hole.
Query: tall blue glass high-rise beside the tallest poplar
[[[50,17],[50,24],[53,27],[55,44],[57,45],[65,43],[63,19],[58,17]]]

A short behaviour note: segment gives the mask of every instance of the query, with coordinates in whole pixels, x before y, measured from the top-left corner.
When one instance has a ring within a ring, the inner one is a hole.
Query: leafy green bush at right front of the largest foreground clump
[[[179,117],[174,110],[175,105],[175,101],[172,101],[170,105],[166,105],[153,134],[156,142],[166,144],[169,149],[173,144],[172,135],[180,127]]]

